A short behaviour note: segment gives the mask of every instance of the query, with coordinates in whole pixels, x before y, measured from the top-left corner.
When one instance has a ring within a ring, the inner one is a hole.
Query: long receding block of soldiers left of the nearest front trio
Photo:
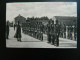
[[[29,21],[22,24],[22,31],[29,36],[43,41],[43,28],[42,22]]]

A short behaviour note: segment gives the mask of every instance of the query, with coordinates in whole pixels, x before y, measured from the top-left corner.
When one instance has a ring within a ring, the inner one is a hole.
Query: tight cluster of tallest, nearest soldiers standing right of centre
[[[49,21],[47,24],[48,43],[51,43],[55,46],[59,46],[59,35],[60,25],[58,23],[58,20],[56,20],[56,24],[54,24],[54,21]]]

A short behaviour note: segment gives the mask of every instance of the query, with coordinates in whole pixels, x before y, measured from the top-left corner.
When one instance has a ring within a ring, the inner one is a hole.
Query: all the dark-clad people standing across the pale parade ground
[[[19,25],[19,24],[18,24]],[[14,25],[14,30],[15,30]],[[40,21],[27,21],[22,23],[22,32],[27,34],[33,38],[43,41],[43,34],[47,34],[47,43],[52,44],[54,46],[59,46],[59,37],[70,39],[70,40],[77,40],[77,26],[66,26],[65,24],[61,25],[61,23],[56,20],[54,24],[54,20],[48,20],[47,25],[45,26]],[[18,35],[17,40],[21,41],[21,27],[17,26],[17,33]],[[45,33],[46,32],[46,33]],[[9,36],[9,24],[7,22],[6,25],[6,38],[8,39]]]

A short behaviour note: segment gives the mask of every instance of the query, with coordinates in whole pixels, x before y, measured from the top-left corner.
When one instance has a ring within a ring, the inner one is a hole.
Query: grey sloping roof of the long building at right
[[[77,24],[77,17],[74,16],[54,16],[59,22],[63,22],[66,25],[75,25]]]

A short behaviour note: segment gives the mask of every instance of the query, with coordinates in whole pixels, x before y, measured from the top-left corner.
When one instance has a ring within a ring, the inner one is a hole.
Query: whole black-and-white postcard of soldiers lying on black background
[[[6,3],[7,48],[77,48],[77,2]]]

